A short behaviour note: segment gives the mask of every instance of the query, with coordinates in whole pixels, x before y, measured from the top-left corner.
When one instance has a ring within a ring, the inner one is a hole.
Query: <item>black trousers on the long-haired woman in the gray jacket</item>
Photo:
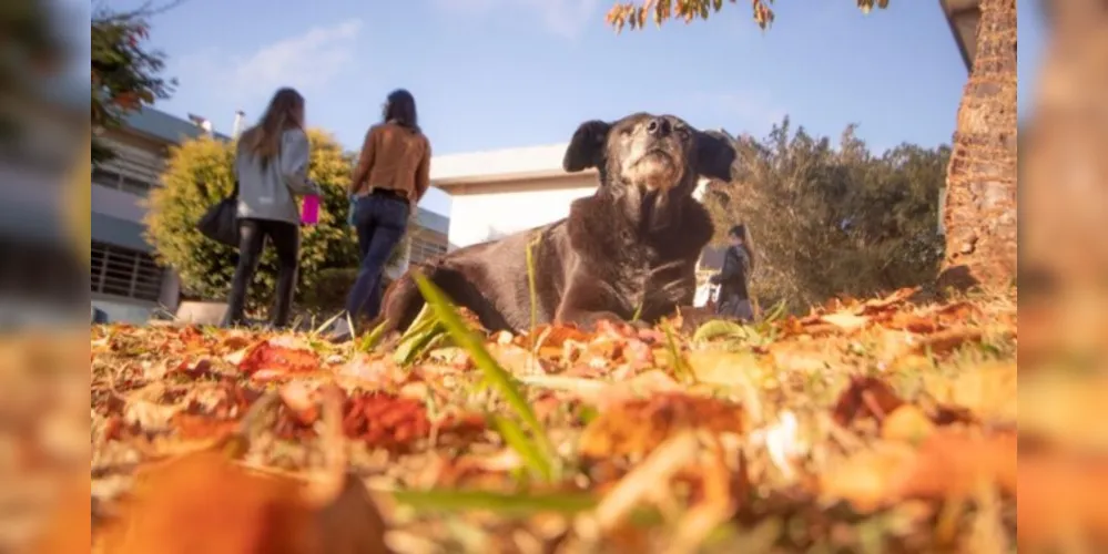
[[[246,290],[262,257],[265,237],[277,249],[277,290],[274,295],[271,322],[275,327],[288,325],[296,291],[297,255],[301,248],[301,229],[297,225],[267,219],[238,219],[238,266],[231,280],[227,315],[224,325],[241,325],[246,308]]]

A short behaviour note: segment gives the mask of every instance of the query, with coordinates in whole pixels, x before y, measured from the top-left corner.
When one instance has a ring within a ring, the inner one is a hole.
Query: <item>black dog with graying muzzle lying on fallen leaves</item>
[[[600,186],[569,217],[449,253],[421,268],[490,330],[528,329],[533,259],[539,324],[591,328],[600,319],[655,322],[692,304],[695,265],[712,222],[692,197],[700,175],[730,179],[733,142],[672,115],[637,113],[581,124],[566,150],[567,172],[597,167]],[[386,291],[387,330],[407,328],[424,299],[410,276]]]

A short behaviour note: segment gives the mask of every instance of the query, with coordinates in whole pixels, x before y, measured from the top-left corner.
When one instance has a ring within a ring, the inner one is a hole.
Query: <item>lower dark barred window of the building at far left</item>
[[[122,246],[92,243],[92,291],[157,301],[164,270],[149,254]]]

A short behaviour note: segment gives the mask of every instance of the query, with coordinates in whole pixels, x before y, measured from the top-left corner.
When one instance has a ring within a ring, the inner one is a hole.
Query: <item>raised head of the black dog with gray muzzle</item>
[[[571,173],[597,167],[606,185],[691,193],[698,175],[731,181],[735,156],[723,133],[698,131],[673,115],[636,113],[613,123],[582,123],[562,167]]]

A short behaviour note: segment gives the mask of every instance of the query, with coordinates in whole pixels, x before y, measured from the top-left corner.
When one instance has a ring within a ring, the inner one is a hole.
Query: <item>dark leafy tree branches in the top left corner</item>
[[[149,18],[175,6],[159,9],[145,4],[125,13],[98,9],[92,18],[92,110],[93,132],[118,129],[128,112],[151,105],[170,96],[175,81],[166,81],[160,73],[165,65],[165,54],[148,50]],[[92,138],[92,162],[102,163],[113,156],[112,151]]]

